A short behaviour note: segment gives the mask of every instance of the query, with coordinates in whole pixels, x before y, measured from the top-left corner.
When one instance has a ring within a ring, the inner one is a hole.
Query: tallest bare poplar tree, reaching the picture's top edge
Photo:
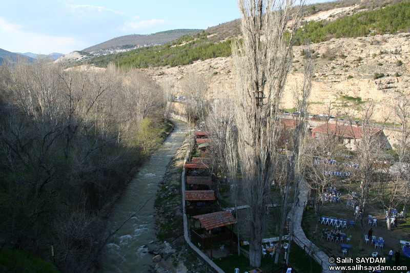
[[[243,35],[232,46],[238,151],[244,198],[250,205],[250,264],[259,266],[265,206],[277,161],[279,103],[301,14],[295,10],[290,23],[293,1],[237,3]]]

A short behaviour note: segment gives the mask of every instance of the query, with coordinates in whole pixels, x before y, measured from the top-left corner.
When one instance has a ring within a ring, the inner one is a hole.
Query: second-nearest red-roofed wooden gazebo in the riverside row
[[[211,213],[215,200],[214,191],[185,191],[185,213],[189,215]]]

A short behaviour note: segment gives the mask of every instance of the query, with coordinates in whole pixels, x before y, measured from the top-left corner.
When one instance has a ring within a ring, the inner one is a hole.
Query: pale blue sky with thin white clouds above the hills
[[[2,0],[0,48],[68,54],[123,35],[207,29],[239,17],[236,0]]]

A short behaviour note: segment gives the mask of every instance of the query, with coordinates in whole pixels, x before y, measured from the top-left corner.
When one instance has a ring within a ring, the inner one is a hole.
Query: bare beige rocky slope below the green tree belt
[[[358,38],[331,39],[313,44],[316,56],[309,111],[332,115],[349,113],[360,118],[360,107],[375,102],[375,120],[391,113],[396,98],[409,95],[410,34],[375,35]],[[282,107],[295,107],[296,86],[303,80],[303,50],[294,47],[294,62],[289,71]],[[171,78],[174,94],[182,95],[179,80],[189,70],[210,76],[208,98],[230,96],[234,87],[231,58],[196,61],[192,65],[144,69],[158,82]],[[295,83],[299,83],[296,85]],[[393,118],[391,119],[393,121]]]

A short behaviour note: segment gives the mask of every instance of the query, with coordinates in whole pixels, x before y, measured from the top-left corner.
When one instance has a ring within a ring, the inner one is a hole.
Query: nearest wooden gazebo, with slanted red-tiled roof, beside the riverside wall
[[[213,244],[227,241],[232,244],[233,239],[236,237],[233,232],[233,225],[237,222],[235,217],[228,211],[202,214],[192,216],[192,218],[199,220],[201,223],[199,229],[192,230],[192,238],[201,245],[211,245],[211,259]]]

